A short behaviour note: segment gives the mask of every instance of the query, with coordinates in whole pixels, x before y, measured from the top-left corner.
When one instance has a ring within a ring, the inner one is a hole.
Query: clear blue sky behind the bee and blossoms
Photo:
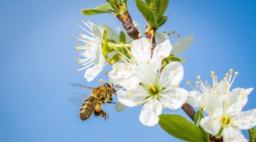
[[[69,92],[85,92],[70,83],[96,87],[102,73],[86,82],[76,62],[76,40],[82,32],[77,24],[91,19],[116,30],[121,23],[111,14],[84,16],[81,9],[106,3],[97,1],[0,1],[0,141],[179,141],[159,125],[140,124],[141,107],[126,108],[117,113],[114,104],[103,106],[110,120],[91,117],[81,122],[81,104],[67,99]],[[255,1],[172,1],[165,15],[170,15],[159,32],[194,35],[190,48],[182,53],[185,75],[180,87],[191,90],[185,82],[201,75],[210,80],[210,72],[219,77],[233,68],[239,71],[232,88],[256,87],[256,2]],[[133,20],[145,29],[145,20],[128,1]],[[109,71],[107,66],[104,71]],[[87,92],[90,93],[90,92]],[[255,108],[255,90],[249,95],[244,110]],[[180,114],[181,110],[165,109],[163,113]],[[188,118],[189,119],[189,118]],[[248,137],[247,131],[243,131]]]

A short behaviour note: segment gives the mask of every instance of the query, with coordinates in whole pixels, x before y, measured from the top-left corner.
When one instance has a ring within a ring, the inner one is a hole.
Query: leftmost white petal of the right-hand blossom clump
[[[197,91],[189,91],[188,95],[188,103],[192,104],[196,108],[202,108],[202,94]]]

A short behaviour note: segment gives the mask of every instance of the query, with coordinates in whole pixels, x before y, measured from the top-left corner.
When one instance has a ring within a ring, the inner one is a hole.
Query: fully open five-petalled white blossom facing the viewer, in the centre
[[[145,126],[155,126],[163,108],[179,109],[187,100],[188,92],[178,87],[184,75],[182,64],[171,62],[160,72],[161,67],[157,62],[141,63],[132,70],[141,85],[117,92],[121,104],[143,104],[139,120]]]

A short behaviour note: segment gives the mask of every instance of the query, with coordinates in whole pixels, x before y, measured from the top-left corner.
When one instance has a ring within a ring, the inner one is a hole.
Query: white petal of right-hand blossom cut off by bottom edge
[[[228,126],[225,127],[222,131],[221,135],[223,136],[223,140],[225,142],[246,142],[244,135],[242,134],[241,130],[238,128]]]

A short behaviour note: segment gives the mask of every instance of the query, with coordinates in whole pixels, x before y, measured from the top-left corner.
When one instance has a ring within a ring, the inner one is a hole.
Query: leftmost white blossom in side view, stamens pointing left
[[[106,59],[102,53],[101,43],[103,40],[103,31],[107,31],[108,39],[115,39],[116,42],[119,42],[118,35],[108,26],[106,25],[95,25],[94,23],[82,21],[83,24],[86,25],[88,30],[83,28],[80,24],[78,27],[83,29],[86,34],[80,33],[80,38],[77,38],[73,35],[73,37],[77,38],[78,41],[83,42],[83,45],[76,44],[76,50],[78,51],[80,56],[84,56],[84,59],[76,59],[81,66],[81,69],[77,69],[76,71],[81,71],[86,69],[84,77],[88,82],[92,81],[103,69],[106,65]]]

